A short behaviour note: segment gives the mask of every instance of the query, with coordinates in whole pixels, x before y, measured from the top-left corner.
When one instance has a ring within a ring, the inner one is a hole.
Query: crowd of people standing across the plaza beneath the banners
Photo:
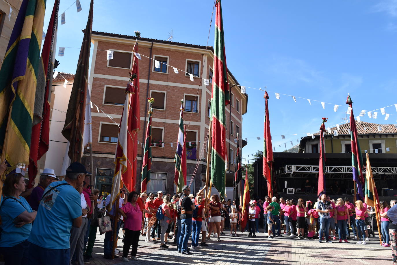
[[[0,174],[6,170],[0,164]],[[112,205],[111,194],[103,199],[98,190],[91,192],[91,173],[78,163],[67,168],[65,180],[59,181],[54,170],[40,173],[35,188],[26,189],[23,174],[12,172],[6,176],[1,197],[0,251],[5,264],[83,265],[94,260],[93,246],[98,230],[98,218],[110,217],[112,231],[104,238],[104,258],[119,258],[113,252],[116,235],[123,229],[121,261],[137,260],[140,236],[145,242],[168,249],[174,245],[181,255],[189,250],[208,246],[209,240],[221,241],[222,235],[237,236],[237,230],[255,237],[259,228],[267,232],[267,239],[289,236],[302,240],[365,245],[369,240],[368,219],[374,213],[362,201],[348,197],[331,199],[320,194],[317,201],[266,196],[264,201],[252,200],[247,206],[247,225],[241,227],[241,205],[231,199],[220,201],[213,194],[204,196],[204,186],[192,194],[189,186],[171,197],[156,194],[130,193],[121,190]],[[397,226],[388,213],[395,211],[397,200],[390,205],[380,202],[382,246],[392,249],[397,264]],[[117,206],[117,207],[116,207]],[[392,210],[390,210],[392,209]],[[171,237],[173,236],[173,237]],[[264,237],[266,238],[266,236]],[[189,248],[190,242],[190,248]],[[337,242],[337,241],[336,241]],[[29,259],[28,259],[29,257]],[[50,257],[50,258],[49,258]]]

